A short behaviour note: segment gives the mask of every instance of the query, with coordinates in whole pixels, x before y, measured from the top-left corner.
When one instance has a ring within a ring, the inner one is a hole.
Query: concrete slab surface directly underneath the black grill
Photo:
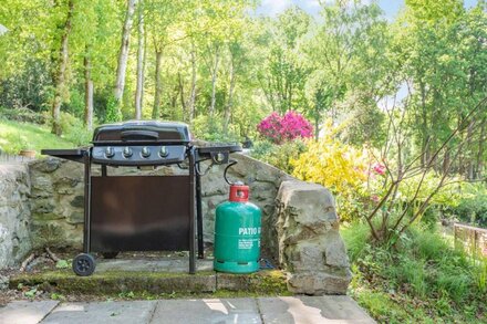
[[[188,272],[187,258],[170,258],[164,260],[96,260],[96,272],[107,271],[151,271],[151,272]],[[196,260],[197,271],[213,271],[213,260]]]

